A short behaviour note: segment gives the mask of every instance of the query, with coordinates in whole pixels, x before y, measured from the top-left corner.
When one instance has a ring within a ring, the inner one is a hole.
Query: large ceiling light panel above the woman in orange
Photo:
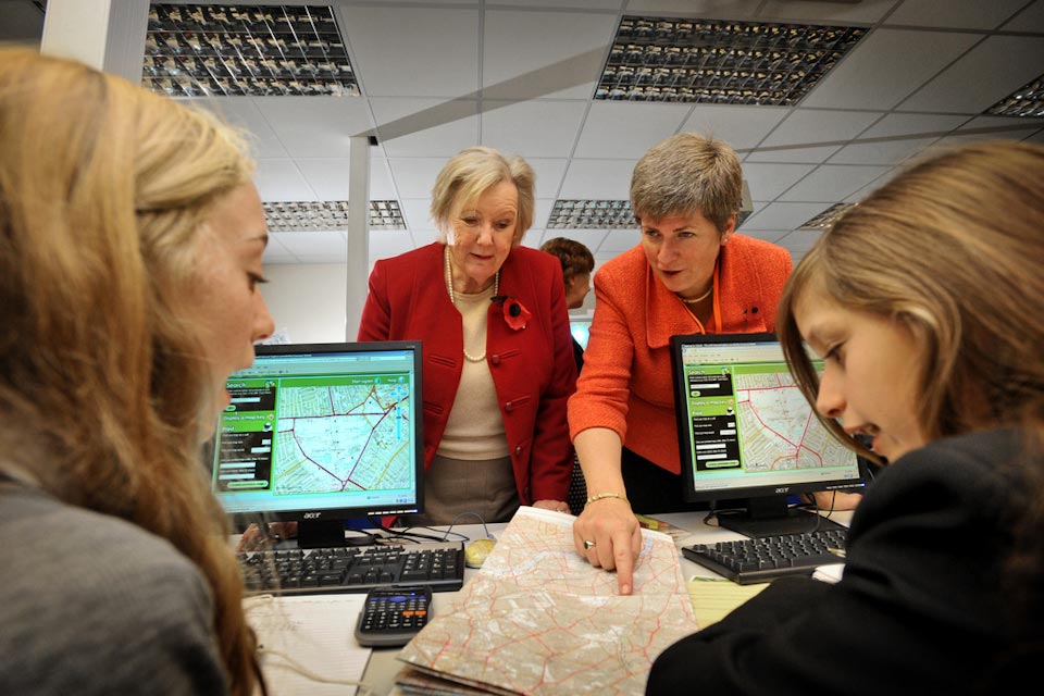
[[[853,26],[624,16],[595,99],[790,107],[866,34]]]

